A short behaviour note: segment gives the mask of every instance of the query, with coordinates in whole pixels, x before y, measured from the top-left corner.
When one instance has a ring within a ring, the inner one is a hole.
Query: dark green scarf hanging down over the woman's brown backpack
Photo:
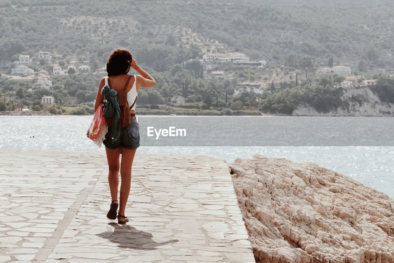
[[[114,141],[119,139],[121,135],[121,130],[118,129],[121,119],[121,107],[119,105],[118,97],[116,96],[118,93],[116,92],[116,90],[110,88],[110,86],[105,85],[101,89],[101,94],[104,94],[104,99],[107,100],[107,105],[105,106],[102,116],[113,117],[111,129],[111,138],[113,143]]]

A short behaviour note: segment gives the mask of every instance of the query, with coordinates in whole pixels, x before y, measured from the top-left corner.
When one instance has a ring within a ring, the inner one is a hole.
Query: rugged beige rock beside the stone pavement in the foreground
[[[394,201],[314,163],[230,165],[258,263],[394,262]]]

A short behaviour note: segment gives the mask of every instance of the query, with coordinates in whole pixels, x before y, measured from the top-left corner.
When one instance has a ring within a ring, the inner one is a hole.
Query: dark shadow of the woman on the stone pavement
[[[113,231],[105,231],[96,234],[99,237],[108,239],[108,241],[117,244],[121,248],[134,248],[136,250],[154,250],[158,246],[178,242],[177,239],[171,239],[164,242],[157,242],[152,239],[153,235],[149,232],[138,230],[131,225],[126,227],[120,226],[115,222],[108,223],[113,226]]]

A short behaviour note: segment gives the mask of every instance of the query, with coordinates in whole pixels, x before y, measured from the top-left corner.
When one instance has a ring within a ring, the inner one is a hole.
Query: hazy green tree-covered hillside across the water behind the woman
[[[322,67],[349,65],[359,82],[394,76],[394,7],[385,0],[369,3],[5,0],[0,2],[0,61],[14,62],[26,54],[35,72],[51,74],[58,65],[66,71],[70,65],[88,65],[93,73],[104,67],[115,47],[125,47],[158,83],[141,92],[139,105],[156,107],[181,96],[190,103],[184,107],[194,107],[201,114],[214,111],[208,115],[248,110],[292,115],[297,108],[307,111],[302,107],[326,114],[338,107],[348,109],[348,102],[340,98],[343,78],[323,75]],[[49,51],[53,61],[39,60],[39,51]],[[206,53],[226,52],[241,52],[252,61],[268,64],[261,68],[222,62],[208,65],[202,59]],[[4,73],[15,67],[9,65]],[[215,78],[212,71],[223,71],[223,78]],[[58,107],[52,113],[91,113],[99,79],[93,74],[56,76],[50,89],[35,90],[32,83],[5,80],[0,83],[0,95],[4,94],[0,109],[39,106],[41,97],[49,95],[56,100],[71,96],[85,103],[83,109]],[[245,81],[264,82],[264,88],[249,94],[240,87]],[[272,82],[276,86],[268,87]],[[393,88],[389,83],[374,93],[392,103]],[[160,107],[160,114],[169,111]],[[41,105],[37,110],[49,109]],[[197,111],[192,112],[188,114]]]

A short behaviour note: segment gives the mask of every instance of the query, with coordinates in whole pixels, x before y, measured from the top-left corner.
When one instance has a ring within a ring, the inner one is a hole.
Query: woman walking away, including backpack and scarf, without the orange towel
[[[128,75],[130,67],[140,75]],[[110,55],[107,62],[108,77],[100,81],[97,92],[95,110],[105,99],[107,105],[104,117],[108,124],[108,133],[103,144],[108,160],[108,182],[111,191],[111,205],[107,218],[118,219],[119,224],[128,222],[125,216],[126,203],[130,193],[131,167],[134,154],[139,147],[139,128],[135,115],[135,107],[139,88],[152,88],[156,81],[137,65],[127,49],[116,49]],[[119,157],[120,163],[121,192],[118,208],[119,186]]]

